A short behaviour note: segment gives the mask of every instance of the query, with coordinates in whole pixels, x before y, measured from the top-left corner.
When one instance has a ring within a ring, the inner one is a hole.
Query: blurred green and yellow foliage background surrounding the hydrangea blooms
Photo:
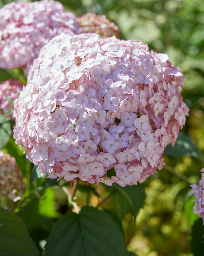
[[[0,7],[9,2],[0,0]],[[161,171],[141,185],[124,189],[115,185],[106,187],[80,182],[75,202],[79,207],[99,205],[107,221],[111,216],[124,236],[126,247],[133,252],[127,255],[203,256],[203,222],[193,213],[194,193],[190,184],[198,184],[200,169],[204,167],[204,2],[60,2],[77,16],[87,12],[103,13],[119,26],[122,39],[139,39],[153,51],[167,53],[169,60],[184,74],[182,96],[190,108],[176,145],[169,145],[165,150],[166,166]],[[25,82],[21,70],[0,70],[1,81],[10,77]],[[10,138],[8,120],[1,117],[0,132],[3,131],[5,136],[3,141],[1,136],[0,147],[16,158],[27,181],[25,198],[14,207],[14,211],[24,220],[37,248],[43,253],[45,239],[53,223],[59,217],[66,216],[64,214],[73,207],[67,195],[70,185],[42,178]],[[107,200],[104,201],[105,198]],[[91,214],[94,211],[92,208],[85,210]],[[73,215],[69,218],[77,217]]]

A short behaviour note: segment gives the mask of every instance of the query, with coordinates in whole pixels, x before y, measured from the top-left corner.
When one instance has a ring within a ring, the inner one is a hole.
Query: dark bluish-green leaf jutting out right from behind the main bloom
[[[203,155],[197,145],[188,135],[182,132],[179,133],[174,146],[171,144],[166,146],[164,154],[174,157],[188,155],[204,163]]]

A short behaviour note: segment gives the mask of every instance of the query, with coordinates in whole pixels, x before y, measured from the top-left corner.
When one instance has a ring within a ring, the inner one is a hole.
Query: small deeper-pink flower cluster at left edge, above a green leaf
[[[14,119],[13,101],[18,98],[23,89],[23,83],[13,79],[9,79],[0,84],[0,114]]]

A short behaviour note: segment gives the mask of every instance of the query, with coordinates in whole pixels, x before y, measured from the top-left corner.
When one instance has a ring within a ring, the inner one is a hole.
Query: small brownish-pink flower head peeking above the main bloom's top
[[[115,36],[120,38],[120,30],[114,22],[107,19],[105,15],[95,13],[85,13],[78,18],[79,24],[84,32],[96,33],[101,38],[107,38]]]

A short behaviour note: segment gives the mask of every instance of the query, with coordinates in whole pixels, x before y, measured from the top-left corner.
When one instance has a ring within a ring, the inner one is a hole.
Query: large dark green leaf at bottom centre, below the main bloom
[[[118,226],[108,214],[91,206],[58,220],[45,245],[46,256],[125,256]]]

